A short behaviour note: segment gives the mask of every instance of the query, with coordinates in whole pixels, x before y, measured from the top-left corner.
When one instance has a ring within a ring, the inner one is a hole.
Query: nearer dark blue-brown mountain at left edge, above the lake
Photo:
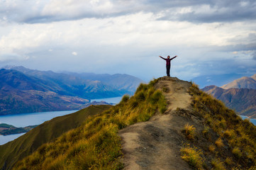
[[[56,86],[16,70],[0,70],[0,115],[82,109],[89,100],[53,91]]]

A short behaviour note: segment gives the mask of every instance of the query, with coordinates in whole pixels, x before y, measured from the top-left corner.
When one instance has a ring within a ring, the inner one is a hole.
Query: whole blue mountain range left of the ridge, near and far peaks
[[[77,110],[88,106],[92,98],[133,94],[140,82],[127,74],[65,74],[5,67],[0,70],[0,115]]]

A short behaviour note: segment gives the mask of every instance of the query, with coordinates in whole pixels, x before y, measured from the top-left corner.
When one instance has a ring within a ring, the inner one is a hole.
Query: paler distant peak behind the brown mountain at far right
[[[252,77],[242,77],[240,79],[236,79],[236,80],[230,82],[229,84],[221,86],[221,88],[223,88],[223,89],[231,89],[231,88],[256,89],[256,79],[255,79],[256,76],[255,75],[253,75]]]

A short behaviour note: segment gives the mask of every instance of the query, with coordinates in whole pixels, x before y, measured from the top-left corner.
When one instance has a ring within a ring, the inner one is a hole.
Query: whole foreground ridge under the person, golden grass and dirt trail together
[[[161,77],[27,156],[13,169],[255,169],[256,128],[196,85]]]

